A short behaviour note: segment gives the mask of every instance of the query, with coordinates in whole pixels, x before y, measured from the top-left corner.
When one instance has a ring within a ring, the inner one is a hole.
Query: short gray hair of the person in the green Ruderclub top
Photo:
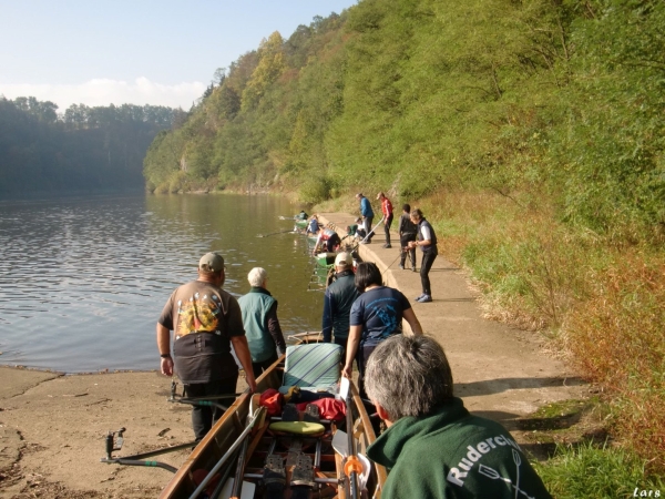
[[[371,353],[365,390],[391,421],[427,416],[452,398],[452,373],[434,339],[393,335]]]

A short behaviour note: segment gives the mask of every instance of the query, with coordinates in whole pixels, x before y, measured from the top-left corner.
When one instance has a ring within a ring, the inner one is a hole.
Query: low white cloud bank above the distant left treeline
[[[2,84],[0,94],[7,99],[34,96],[52,101],[63,112],[71,104],[94,105],[166,105],[188,110],[203,95],[206,85],[198,81],[164,85],[141,77],[131,83],[120,80],[93,79],[80,84]]]

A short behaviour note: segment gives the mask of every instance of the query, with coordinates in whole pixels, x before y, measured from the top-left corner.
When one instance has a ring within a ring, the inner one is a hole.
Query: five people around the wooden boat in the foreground
[[[427,241],[436,247],[431,234]],[[411,304],[383,285],[377,265],[362,262],[354,272],[351,255],[342,252],[335,271],[325,293],[323,340],[345,350],[342,376],[351,377],[356,361],[360,394],[387,426],[367,449],[371,460],[390,469],[381,497],[550,498],[510,434],[470,415],[453,396],[443,349],[423,336]],[[198,278],[172,293],[157,322],[161,370],[171,376],[175,369],[190,397],[235,397],[238,367],[232,345],[253,393],[255,377],[286,349],[266,271],[249,272],[250,289],[237,301],[222,288],[224,281],[224,258],[204,255]],[[402,333],[402,319],[409,334]],[[197,439],[219,413],[194,406]]]

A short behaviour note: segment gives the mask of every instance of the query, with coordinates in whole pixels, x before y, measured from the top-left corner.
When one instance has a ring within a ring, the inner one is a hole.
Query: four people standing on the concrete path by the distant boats
[[[371,243],[375,228],[371,227],[374,221],[374,210],[371,203],[362,193],[356,194],[356,198],[360,202],[360,215],[357,223],[362,223],[362,238],[360,244]],[[390,244],[390,226],[392,225],[392,203],[386,194],[380,192],[377,195],[377,201],[381,202],[381,222],[383,224],[383,231],[386,233],[386,244],[383,248],[391,248]],[[352,227],[347,227],[350,231]],[[429,303],[432,301],[432,288],[429,278],[429,273],[432,268],[434,259],[439,254],[437,247],[437,234],[432,225],[424,218],[422,211],[419,208],[411,210],[409,204],[402,205],[402,214],[399,218],[398,225],[399,243],[400,243],[400,262],[399,268],[402,271],[406,268],[407,256],[411,262],[411,269],[418,272],[416,268],[416,247],[420,247],[422,251],[422,262],[420,264],[420,283],[422,285],[422,293],[416,297],[416,302]]]

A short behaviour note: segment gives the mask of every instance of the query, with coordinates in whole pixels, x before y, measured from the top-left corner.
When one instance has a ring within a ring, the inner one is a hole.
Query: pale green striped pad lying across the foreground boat
[[[341,346],[334,343],[293,345],[286,348],[283,388],[311,391],[337,390],[341,375]],[[280,389],[280,391],[283,391]]]

